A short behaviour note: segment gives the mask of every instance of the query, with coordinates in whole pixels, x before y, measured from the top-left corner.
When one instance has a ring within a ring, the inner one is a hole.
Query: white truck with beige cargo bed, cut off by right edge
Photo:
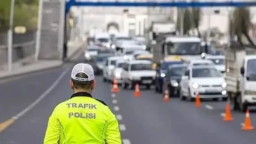
[[[234,111],[256,106],[256,51],[227,49],[225,52],[226,92]]]

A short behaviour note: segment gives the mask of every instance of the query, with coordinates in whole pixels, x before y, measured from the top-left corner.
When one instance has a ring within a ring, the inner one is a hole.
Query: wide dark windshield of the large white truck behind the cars
[[[200,42],[176,42],[168,44],[167,47],[169,55],[199,55],[202,53]]]

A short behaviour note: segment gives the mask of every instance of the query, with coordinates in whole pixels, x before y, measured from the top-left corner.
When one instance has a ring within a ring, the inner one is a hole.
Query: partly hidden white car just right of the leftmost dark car
[[[111,79],[111,72],[114,69],[114,66],[116,65],[116,61],[118,59],[123,59],[122,56],[114,56],[114,57],[108,57],[104,61],[104,67],[103,67],[103,81],[112,81]]]

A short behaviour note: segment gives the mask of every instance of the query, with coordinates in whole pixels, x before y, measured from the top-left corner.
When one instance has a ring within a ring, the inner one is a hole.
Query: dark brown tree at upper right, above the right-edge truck
[[[256,45],[253,43],[252,39],[250,38],[248,32],[252,27],[252,23],[250,21],[250,10],[247,8],[236,8],[233,11],[233,19],[231,22],[231,33],[234,33],[238,38],[238,42],[243,45],[241,37],[243,35],[247,38],[248,42],[256,48]]]

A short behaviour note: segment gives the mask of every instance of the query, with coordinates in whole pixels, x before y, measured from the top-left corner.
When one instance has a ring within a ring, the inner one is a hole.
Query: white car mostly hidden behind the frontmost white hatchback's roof
[[[205,59],[212,61],[216,64],[216,68],[221,71],[221,73],[225,72],[225,56],[209,56],[207,55]]]

